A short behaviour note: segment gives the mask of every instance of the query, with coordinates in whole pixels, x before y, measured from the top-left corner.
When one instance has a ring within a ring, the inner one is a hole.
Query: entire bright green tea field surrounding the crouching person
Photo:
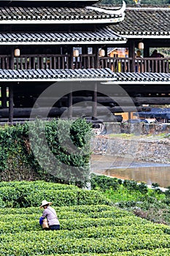
[[[59,231],[39,225],[53,202]],[[45,181],[0,183],[1,255],[169,255],[170,227],[112,206],[99,192]]]

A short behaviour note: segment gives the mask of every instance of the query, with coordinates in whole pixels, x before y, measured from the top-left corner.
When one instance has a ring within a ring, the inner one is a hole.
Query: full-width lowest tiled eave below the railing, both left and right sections
[[[169,83],[169,73],[118,73],[111,69],[0,69],[0,81],[109,80],[108,83]]]

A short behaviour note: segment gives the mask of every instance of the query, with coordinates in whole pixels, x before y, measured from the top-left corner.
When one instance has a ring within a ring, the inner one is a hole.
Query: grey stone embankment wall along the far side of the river
[[[125,161],[170,164],[170,140],[161,135],[96,135],[91,142],[93,154],[121,157]]]

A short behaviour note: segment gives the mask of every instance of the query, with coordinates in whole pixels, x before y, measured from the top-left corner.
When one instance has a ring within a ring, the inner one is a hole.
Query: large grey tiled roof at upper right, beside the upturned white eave
[[[109,25],[113,31],[127,38],[170,38],[170,8],[126,7],[125,19]]]

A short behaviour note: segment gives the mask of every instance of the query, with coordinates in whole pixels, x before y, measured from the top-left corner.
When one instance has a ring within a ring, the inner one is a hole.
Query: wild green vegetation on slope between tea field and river
[[[158,184],[146,184],[107,176],[92,176],[92,188],[104,192],[116,206],[152,222],[170,225],[170,189],[162,192]]]

